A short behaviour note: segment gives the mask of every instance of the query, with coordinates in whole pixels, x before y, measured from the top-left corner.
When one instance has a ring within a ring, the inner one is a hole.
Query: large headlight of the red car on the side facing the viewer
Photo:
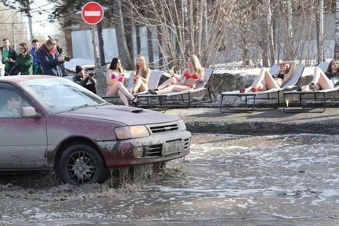
[[[115,136],[118,139],[138,138],[143,136],[150,136],[146,126],[121,126],[114,129]]]

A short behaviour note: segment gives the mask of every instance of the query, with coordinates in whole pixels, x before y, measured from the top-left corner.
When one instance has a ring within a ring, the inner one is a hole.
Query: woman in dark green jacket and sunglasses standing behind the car
[[[15,61],[15,67],[17,67],[21,75],[32,75],[33,74],[33,57],[28,52],[27,43],[20,43],[19,45],[20,54],[17,55]]]

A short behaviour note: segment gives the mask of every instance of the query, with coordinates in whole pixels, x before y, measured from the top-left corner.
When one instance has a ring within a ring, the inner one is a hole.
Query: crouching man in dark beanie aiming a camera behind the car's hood
[[[85,72],[81,66],[77,65],[76,74],[77,75],[74,75],[73,77],[73,81],[96,94],[96,80],[94,78],[94,73],[89,73],[88,71]]]

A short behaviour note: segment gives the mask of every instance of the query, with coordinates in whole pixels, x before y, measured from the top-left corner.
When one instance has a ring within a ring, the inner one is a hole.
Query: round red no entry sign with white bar
[[[86,23],[97,24],[104,16],[104,9],[99,3],[90,1],[82,7],[81,16]]]

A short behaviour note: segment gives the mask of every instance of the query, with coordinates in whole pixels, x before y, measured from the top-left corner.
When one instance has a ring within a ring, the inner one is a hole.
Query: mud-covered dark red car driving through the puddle
[[[65,183],[106,180],[108,168],[189,153],[180,118],[111,105],[65,78],[0,77],[0,170],[56,170]]]

